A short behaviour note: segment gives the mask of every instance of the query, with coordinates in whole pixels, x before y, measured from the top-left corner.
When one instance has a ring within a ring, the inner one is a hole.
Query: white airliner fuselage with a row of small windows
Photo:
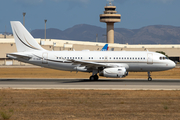
[[[21,54],[31,59],[19,58],[19,61],[66,71],[92,72],[93,68],[86,69],[72,60],[125,67],[133,72],[163,71],[175,67],[173,61],[163,59],[164,55],[148,51],[37,51]]]

